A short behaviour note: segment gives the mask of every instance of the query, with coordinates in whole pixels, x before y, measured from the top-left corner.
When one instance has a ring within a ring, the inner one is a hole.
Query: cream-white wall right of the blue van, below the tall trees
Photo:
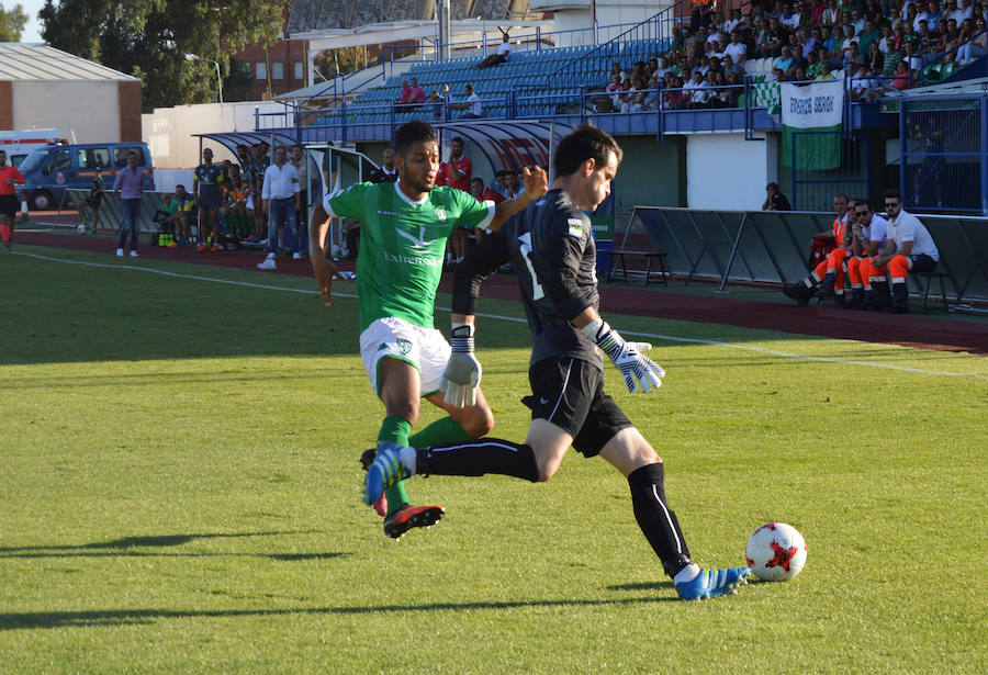
[[[141,116],[141,128],[156,169],[190,169],[201,162],[199,138],[192,134],[252,132],[255,110],[265,114],[280,113],[285,108],[273,101],[156,108],[153,113]],[[218,143],[206,142],[205,145],[213,149],[215,161],[234,159],[233,154]]]

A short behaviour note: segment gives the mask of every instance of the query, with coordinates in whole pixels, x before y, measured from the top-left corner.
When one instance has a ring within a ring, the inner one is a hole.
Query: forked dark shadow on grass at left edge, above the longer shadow
[[[67,544],[58,547],[7,547],[0,548],[0,559],[3,558],[218,558],[218,556],[245,556],[267,558],[282,562],[299,562],[308,560],[333,560],[343,558],[349,553],[181,553],[162,551],[137,551],[134,549],[162,549],[179,547],[198,539],[234,539],[242,537],[276,537],[281,535],[312,535],[317,530],[290,530],[267,532],[207,532],[195,535],[159,535],[147,537],[124,537],[112,541],[97,541],[93,543]]]

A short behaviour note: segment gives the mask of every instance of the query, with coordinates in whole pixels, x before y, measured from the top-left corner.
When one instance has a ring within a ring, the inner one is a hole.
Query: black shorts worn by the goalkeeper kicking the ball
[[[635,426],[614,398],[604,393],[604,373],[586,361],[560,357],[528,370],[531,396],[521,403],[532,419],[546,419],[573,437],[573,447],[594,457],[621,429]]]

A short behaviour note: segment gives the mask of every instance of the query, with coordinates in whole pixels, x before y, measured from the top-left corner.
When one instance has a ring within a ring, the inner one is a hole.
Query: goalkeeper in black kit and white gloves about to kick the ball
[[[549,192],[513,216],[457,266],[452,304],[452,356],[446,401],[471,405],[481,365],[473,353],[474,313],[483,280],[510,261],[535,338],[529,364],[531,408],[525,443],[482,438],[431,448],[380,450],[370,465],[364,502],[373,504],[394,483],[415,474],[480,476],[496,473],[548,481],[573,447],[599,454],[627,479],[631,505],[645,539],[683,599],[733,593],[748,567],[705,570],[689,558],[675,513],[665,499],[660,457],[615,401],[604,393],[600,351],[620,371],[629,392],[649,392],[665,371],[644,356],[651,345],[626,341],[597,312],[593,212],[610,193],[621,149],[608,134],[585,124],[563,138]]]

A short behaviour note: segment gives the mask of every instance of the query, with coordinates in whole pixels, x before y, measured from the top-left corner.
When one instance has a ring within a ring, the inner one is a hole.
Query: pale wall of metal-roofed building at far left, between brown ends
[[[76,143],[117,143],[116,81],[13,82],[13,127],[56,127]],[[74,138],[75,135],[75,138]]]

